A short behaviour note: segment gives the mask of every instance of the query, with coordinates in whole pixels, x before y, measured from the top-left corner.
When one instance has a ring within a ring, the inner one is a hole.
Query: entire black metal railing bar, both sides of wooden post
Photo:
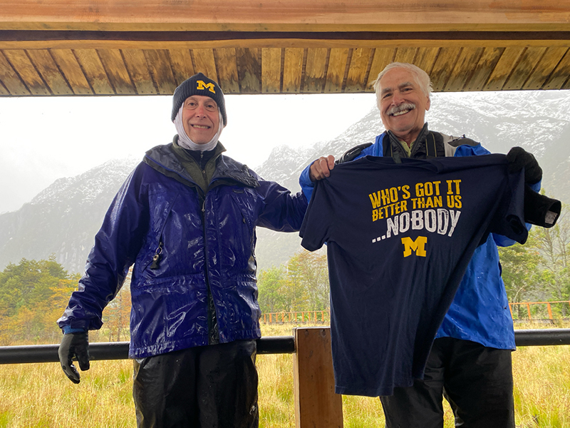
[[[570,345],[570,329],[551,328],[515,330],[517,346]],[[0,347],[0,364],[58,362],[59,345],[25,345]],[[93,342],[89,344],[90,360],[127,360],[129,342]],[[293,354],[293,336],[269,336],[257,340],[257,353]]]

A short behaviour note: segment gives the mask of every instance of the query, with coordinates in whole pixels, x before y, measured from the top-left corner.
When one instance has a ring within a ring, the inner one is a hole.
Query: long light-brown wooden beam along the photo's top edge
[[[200,7],[190,1],[4,1],[2,21],[9,28],[46,29],[242,29],[318,31],[361,27],[361,31],[439,29],[566,28],[570,11],[561,0],[465,0],[392,2],[314,0],[211,0]]]

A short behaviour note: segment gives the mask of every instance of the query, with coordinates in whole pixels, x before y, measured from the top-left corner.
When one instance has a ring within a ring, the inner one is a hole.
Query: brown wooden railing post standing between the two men
[[[334,392],[330,327],[294,329],[296,428],[342,428],[343,401]]]

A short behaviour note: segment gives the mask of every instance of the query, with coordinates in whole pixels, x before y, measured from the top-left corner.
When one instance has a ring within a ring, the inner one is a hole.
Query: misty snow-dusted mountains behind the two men
[[[495,153],[522,146],[537,156],[544,170],[546,193],[568,202],[569,111],[570,91],[436,93],[426,120],[434,131],[465,134]],[[348,148],[372,142],[382,131],[378,110],[373,108],[337,138],[301,150],[275,148],[254,169],[263,178],[296,192],[299,174],[306,165],[319,156],[338,157]],[[39,260],[53,254],[70,272],[82,272],[110,201],[139,161],[108,161],[76,177],[60,178],[19,210],[1,214],[0,269],[8,263],[19,263],[21,258]],[[260,269],[284,263],[301,250],[296,233],[273,233],[261,228],[257,233]]]

